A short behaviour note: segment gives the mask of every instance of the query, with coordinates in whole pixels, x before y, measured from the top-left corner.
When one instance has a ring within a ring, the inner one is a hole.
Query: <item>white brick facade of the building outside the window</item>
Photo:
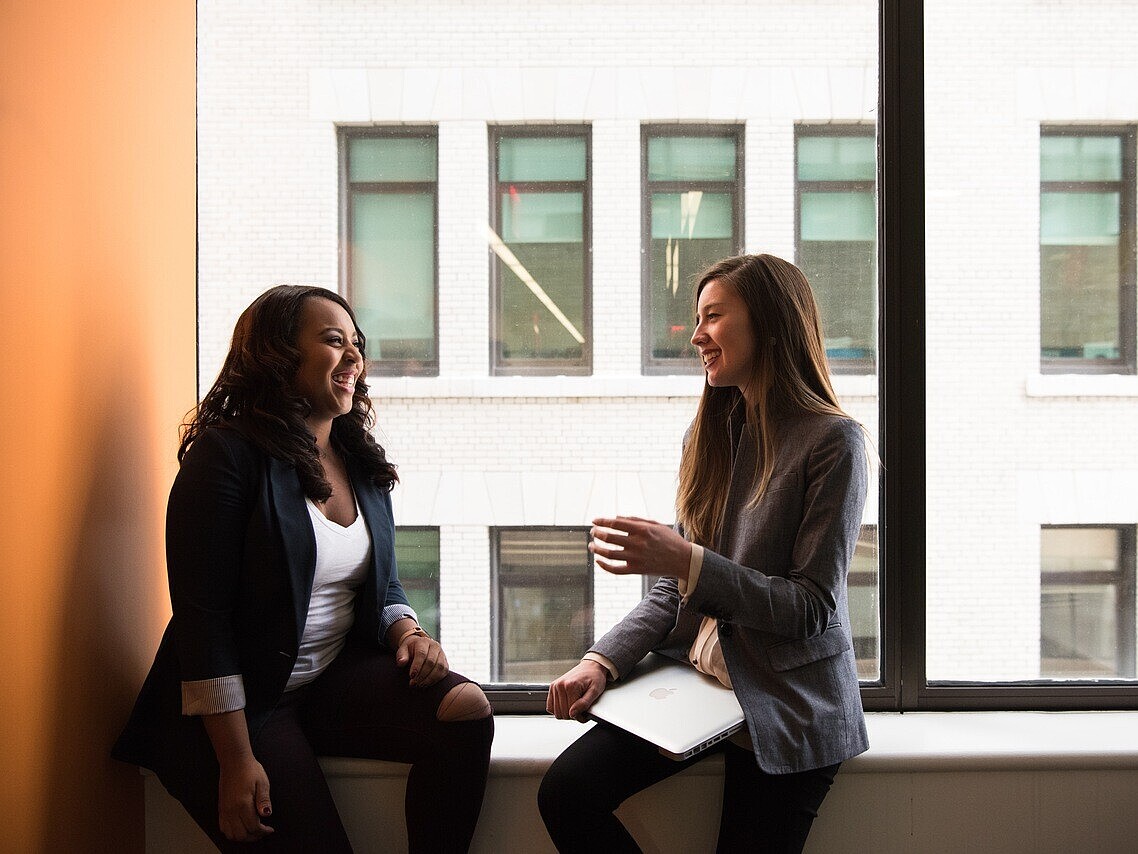
[[[1138,378],[1039,369],[1040,123],[1138,122],[1138,8],[926,6],[929,672],[1031,679],[1040,525],[1138,523]],[[793,258],[794,128],[874,121],[876,7],[198,8],[203,388],[265,287],[343,286],[337,128],[437,128],[439,375],[372,389],[397,524],[439,528],[448,655],[486,679],[490,527],[671,518],[702,379],[641,372],[641,124],[744,125],[747,249]],[[1096,39],[1071,38],[1082,28]],[[591,128],[591,376],[490,376],[496,123]],[[875,434],[876,378],[836,385]],[[876,508],[874,491],[867,524]],[[638,596],[638,580],[597,573],[596,631]]]

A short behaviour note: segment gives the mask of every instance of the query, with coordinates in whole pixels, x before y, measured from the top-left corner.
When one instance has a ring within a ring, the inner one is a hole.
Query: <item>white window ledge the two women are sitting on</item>
[[[498,715],[490,773],[539,777],[592,724],[545,715]],[[873,712],[868,752],[843,773],[1138,770],[1138,712]],[[324,758],[331,777],[402,777],[407,766]],[[721,773],[718,756],[685,772]]]

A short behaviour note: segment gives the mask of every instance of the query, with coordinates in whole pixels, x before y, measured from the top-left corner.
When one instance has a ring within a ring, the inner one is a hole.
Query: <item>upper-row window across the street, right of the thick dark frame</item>
[[[1135,370],[1135,129],[1045,126],[1040,352],[1049,372]]]

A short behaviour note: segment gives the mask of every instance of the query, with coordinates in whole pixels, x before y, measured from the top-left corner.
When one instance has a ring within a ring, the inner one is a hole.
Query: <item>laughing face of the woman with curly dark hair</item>
[[[333,418],[352,411],[355,384],[364,370],[358,344],[355,323],[343,306],[320,297],[305,301],[296,336],[300,366],[292,389],[312,407],[305,420],[318,436]]]

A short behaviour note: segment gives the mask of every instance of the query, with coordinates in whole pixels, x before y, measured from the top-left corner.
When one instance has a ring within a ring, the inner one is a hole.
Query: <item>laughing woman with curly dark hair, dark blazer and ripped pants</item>
[[[184,426],[173,617],[114,753],[222,851],[351,851],[316,756],[410,763],[413,852],[465,851],[481,810],[492,709],[399,583],[365,364],[343,297],[271,288]]]

